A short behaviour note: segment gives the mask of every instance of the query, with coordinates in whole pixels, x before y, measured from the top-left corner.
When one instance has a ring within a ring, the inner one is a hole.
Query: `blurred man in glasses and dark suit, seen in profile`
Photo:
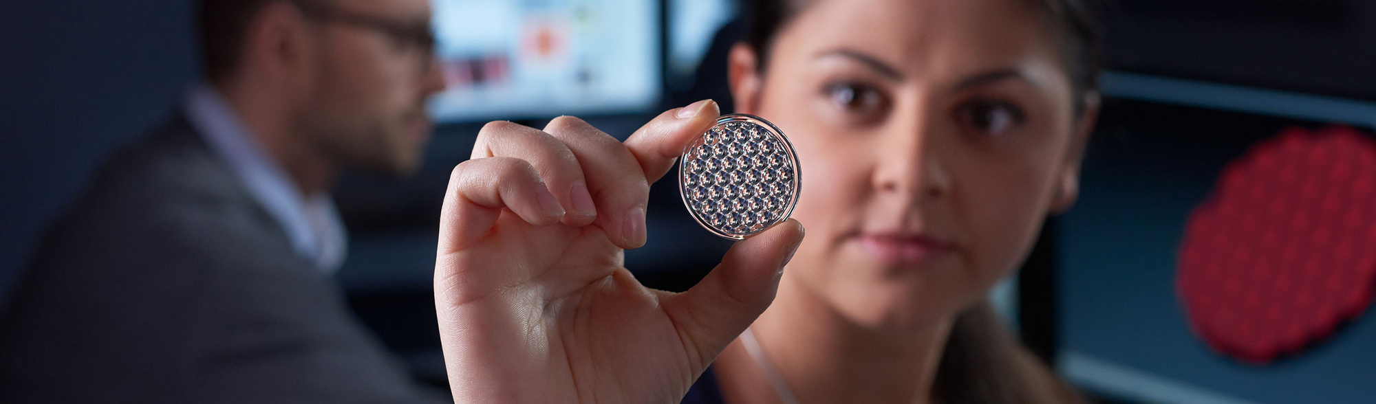
[[[416,403],[329,278],[336,173],[417,169],[425,0],[205,0],[205,84],[110,159],[0,322],[0,403]],[[442,399],[443,400],[443,399]]]

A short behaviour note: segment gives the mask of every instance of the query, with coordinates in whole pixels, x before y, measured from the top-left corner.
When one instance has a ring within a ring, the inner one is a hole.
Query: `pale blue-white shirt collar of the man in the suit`
[[[211,85],[193,87],[184,110],[211,151],[282,225],[296,254],[323,272],[337,271],[348,253],[348,234],[330,195],[301,195],[300,187],[264,153],[230,103]]]

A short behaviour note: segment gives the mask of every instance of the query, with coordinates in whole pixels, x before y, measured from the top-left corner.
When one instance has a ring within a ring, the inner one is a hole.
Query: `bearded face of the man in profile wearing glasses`
[[[425,100],[444,81],[432,49],[399,33],[428,32],[429,3],[319,3],[334,16],[318,23],[315,80],[296,111],[294,129],[341,168],[394,176],[416,172],[432,131]],[[377,27],[384,23],[400,30]]]

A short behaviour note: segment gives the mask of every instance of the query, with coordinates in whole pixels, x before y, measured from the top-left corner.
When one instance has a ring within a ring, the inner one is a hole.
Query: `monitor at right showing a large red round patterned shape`
[[[1110,403],[1376,400],[1376,268],[1335,264],[1376,249],[1343,247],[1376,238],[1376,198],[1324,197],[1372,186],[1376,103],[1116,71],[1104,92],[1079,203],[1057,221],[1058,371]],[[1227,209],[1237,228],[1218,225]],[[1266,231],[1292,224],[1309,229]],[[1295,236],[1320,228],[1354,232]],[[1210,256],[1218,268],[1193,258]]]

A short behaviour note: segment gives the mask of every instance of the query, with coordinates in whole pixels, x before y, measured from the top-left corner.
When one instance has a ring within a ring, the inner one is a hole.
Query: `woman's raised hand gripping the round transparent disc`
[[[625,143],[571,117],[483,128],[440,218],[435,305],[458,403],[678,403],[773,300],[802,242],[790,220],[738,242],[694,289],[647,289],[649,184],[717,104],[667,111]]]

